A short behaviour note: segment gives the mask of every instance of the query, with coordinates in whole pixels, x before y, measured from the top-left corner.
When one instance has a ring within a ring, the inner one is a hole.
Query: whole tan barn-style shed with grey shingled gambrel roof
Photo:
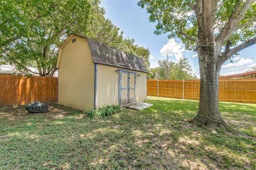
[[[86,110],[145,101],[147,70],[142,58],[70,34],[60,46],[58,103]]]

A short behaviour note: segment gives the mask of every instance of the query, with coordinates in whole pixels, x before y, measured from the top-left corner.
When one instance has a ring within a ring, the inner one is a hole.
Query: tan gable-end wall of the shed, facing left
[[[87,40],[63,47],[59,65],[59,104],[86,110],[94,106],[94,63]]]

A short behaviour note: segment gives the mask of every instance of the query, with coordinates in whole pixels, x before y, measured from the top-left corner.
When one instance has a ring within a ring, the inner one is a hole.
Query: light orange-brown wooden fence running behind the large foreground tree
[[[199,100],[200,80],[148,80],[148,96]],[[256,79],[220,80],[219,100],[256,103]]]

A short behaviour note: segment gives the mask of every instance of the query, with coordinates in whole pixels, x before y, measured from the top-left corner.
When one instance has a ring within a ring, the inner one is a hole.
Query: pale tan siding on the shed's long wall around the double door
[[[118,104],[119,74],[115,72],[116,70],[118,70],[117,67],[98,64],[97,107]],[[140,77],[136,78],[136,100],[145,101],[147,97],[146,73],[137,71],[137,74],[140,74]]]

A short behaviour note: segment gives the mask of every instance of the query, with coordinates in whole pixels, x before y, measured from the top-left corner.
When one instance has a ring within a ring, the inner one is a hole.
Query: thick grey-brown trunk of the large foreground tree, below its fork
[[[202,54],[199,58],[200,66],[200,99],[198,113],[190,120],[193,125],[210,129],[228,128],[222,120],[219,111],[219,72],[221,65],[214,53]]]

